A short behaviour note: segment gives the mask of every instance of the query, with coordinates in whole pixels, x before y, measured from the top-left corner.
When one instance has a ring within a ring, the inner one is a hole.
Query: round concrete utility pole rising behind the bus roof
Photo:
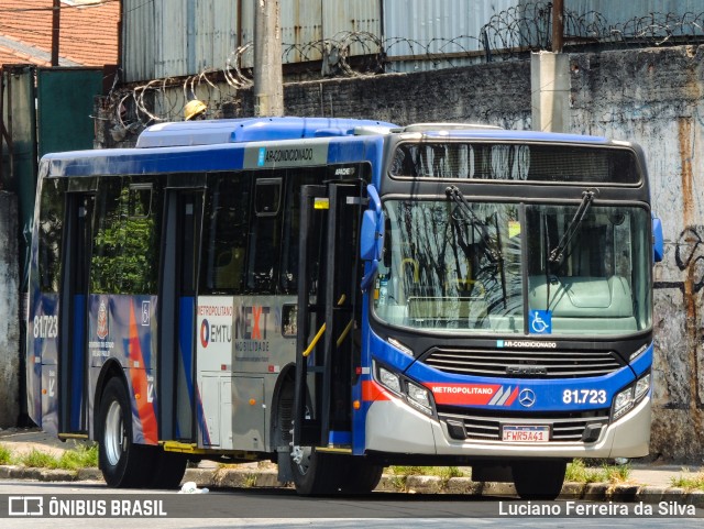
[[[254,114],[284,115],[278,0],[254,0]]]

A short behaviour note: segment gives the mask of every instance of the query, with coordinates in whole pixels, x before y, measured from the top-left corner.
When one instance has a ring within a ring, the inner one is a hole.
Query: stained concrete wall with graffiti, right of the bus
[[[704,456],[704,46],[572,58],[572,128],[627,137],[648,158],[666,235],[656,267],[651,453]]]

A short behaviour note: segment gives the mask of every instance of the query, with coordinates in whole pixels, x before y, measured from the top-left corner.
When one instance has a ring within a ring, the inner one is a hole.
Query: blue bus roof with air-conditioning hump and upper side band
[[[47,154],[42,158],[42,174],[58,177],[265,168],[270,165],[260,163],[252,153],[268,150],[267,142],[272,142],[272,150],[310,147],[319,153],[315,161],[307,158],[286,163],[283,158],[275,158],[277,167],[356,163],[381,159],[385,137],[395,137],[396,142],[454,140],[639,148],[634,144],[609,141],[602,136],[514,131],[462,123],[421,123],[399,128],[374,120],[245,118],[155,124],[142,132],[136,148]]]

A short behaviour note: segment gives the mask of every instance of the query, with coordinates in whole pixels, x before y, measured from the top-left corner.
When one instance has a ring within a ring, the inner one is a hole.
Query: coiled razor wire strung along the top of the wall
[[[651,12],[610,23],[596,11],[564,10],[564,51],[695,45],[704,42],[704,12]],[[490,18],[477,35],[437,36],[427,42],[404,36],[382,38],[371,32],[345,31],[332,37],[283,44],[284,65],[296,65],[304,78],[361,77],[452,68],[468,64],[522,59],[551,48],[552,3],[531,2]],[[120,136],[144,126],[178,120],[189,99],[198,97],[215,117],[238,104],[238,91],[253,85],[253,44],[233,49],[226,64],[197,75],[154,79],[138,86],[113,86],[103,115]],[[410,66],[409,66],[410,65]],[[416,68],[414,68],[414,65]],[[114,134],[113,134],[114,135]]]

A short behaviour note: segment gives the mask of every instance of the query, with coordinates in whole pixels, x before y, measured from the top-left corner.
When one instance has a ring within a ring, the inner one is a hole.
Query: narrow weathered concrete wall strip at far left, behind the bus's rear
[[[20,322],[16,197],[0,191],[0,428],[20,415]]]

